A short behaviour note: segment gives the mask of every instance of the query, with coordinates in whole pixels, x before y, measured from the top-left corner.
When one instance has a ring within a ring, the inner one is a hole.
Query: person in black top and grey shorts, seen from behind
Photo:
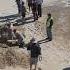
[[[32,38],[30,43],[27,46],[27,50],[30,50],[30,70],[32,70],[32,65],[35,65],[35,69],[37,68],[38,57],[41,55],[41,48],[38,43],[34,43],[35,39]],[[39,57],[39,59],[41,56]]]

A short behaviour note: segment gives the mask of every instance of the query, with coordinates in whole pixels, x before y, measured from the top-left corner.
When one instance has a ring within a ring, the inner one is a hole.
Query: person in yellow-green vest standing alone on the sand
[[[51,17],[51,13],[48,13],[48,18],[46,22],[46,31],[47,31],[47,38],[48,41],[52,41],[52,26],[53,26],[53,18]]]

